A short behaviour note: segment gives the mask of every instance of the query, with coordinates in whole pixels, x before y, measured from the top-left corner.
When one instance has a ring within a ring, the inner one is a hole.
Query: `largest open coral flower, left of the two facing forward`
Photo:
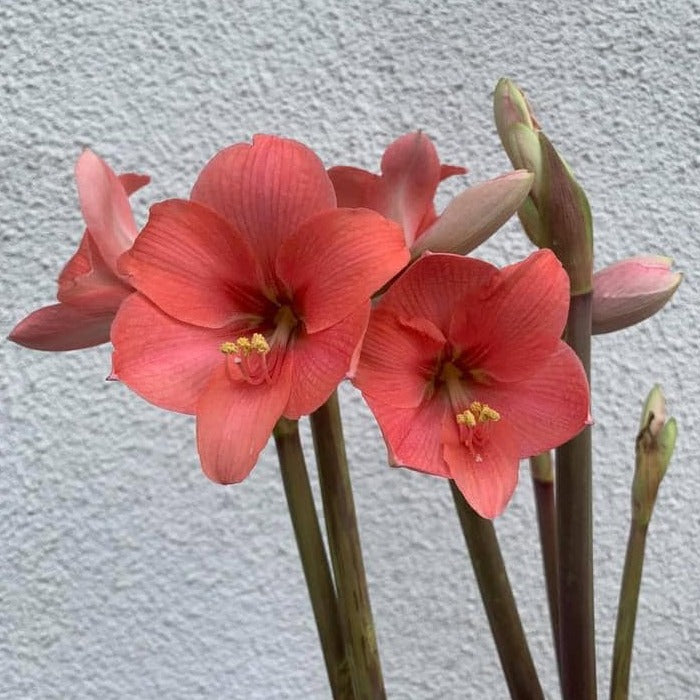
[[[279,418],[347,374],[371,295],[408,260],[395,223],[336,207],[308,148],[256,136],[207,164],[192,201],[151,208],[120,261],[138,293],[112,328],[114,374],[196,414],[205,473],[241,481]]]

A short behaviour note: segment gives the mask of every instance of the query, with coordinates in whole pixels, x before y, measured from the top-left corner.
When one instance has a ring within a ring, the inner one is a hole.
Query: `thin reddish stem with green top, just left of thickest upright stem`
[[[530,457],[530,474],[535,492],[537,508],[537,525],[540,532],[542,565],[547,585],[547,603],[549,619],[552,623],[554,653],[557,657],[557,669],[561,678],[561,658],[559,654],[559,581],[557,569],[557,508],[554,502],[554,467],[551,452]]]

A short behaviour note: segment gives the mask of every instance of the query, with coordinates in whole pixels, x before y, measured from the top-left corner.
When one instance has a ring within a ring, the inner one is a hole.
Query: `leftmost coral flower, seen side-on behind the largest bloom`
[[[112,320],[134,290],[117,270],[138,230],[128,195],[150,178],[116,176],[92,151],[75,166],[80,206],[87,228],[78,250],[58,278],[58,304],[29,314],[10,340],[35,350],[77,350],[109,341]]]

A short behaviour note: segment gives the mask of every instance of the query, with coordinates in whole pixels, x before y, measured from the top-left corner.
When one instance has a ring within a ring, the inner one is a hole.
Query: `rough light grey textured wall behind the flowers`
[[[589,194],[598,265],[660,252],[687,275],[661,315],[594,342],[595,565],[603,694],[633,440],[661,382],[680,437],[650,530],[632,695],[692,697],[699,25],[697,2],[672,0],[3,0],[0,335],[54,298],[82,232],[72,172],[85,146],[152,175],[135,197],[143,223],[255,132],[374,169],[422,128],[471,169],[445,183],[444,205],[509,168],[491,91],[513,77]],[[511,222],[478,253],[500,264],[528,250]],[[48,354],[0,340],[0,697],[326,697],[273,450],[244,484],[210,483],[192,419],[105,383],[109,358],[107,346]],[[387,468],[361,397],[343,387],[342,401],[389,695],[503,697],[447,483]],[[521,482],[497,529],[556,697],[524,465]]]

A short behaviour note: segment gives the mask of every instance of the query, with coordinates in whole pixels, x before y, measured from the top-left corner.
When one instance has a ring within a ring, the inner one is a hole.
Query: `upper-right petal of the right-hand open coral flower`
[[[456,304],[449,338],[472,370],[519,381],[557,347],[568,308],[566,272],[550,250],[540,250],[503,268],[496,287],[466,294]]]

